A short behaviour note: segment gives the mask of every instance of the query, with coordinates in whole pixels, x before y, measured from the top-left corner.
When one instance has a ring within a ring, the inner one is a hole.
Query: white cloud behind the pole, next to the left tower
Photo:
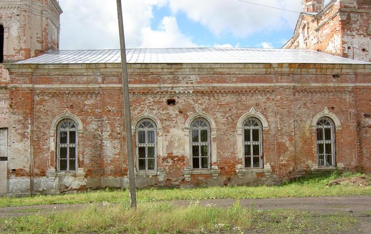
[[[60,0],[61,49],[120,48],[115,0]],[[164,17],[158,30],[150,27],[153,7],[167,0],[123,1],[127,48],[196,47],[181,33],[176,18]]]

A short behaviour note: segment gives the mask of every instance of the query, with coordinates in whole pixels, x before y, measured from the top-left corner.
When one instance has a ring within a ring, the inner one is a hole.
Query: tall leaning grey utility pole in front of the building
[[[130,207],[137,207],[137,195],[135,191],[135,173],[133,163],[133,145],[132,145],[132,123],[130,117],[130,95],[128,81],[128,67],[126,64],[126,49],[124,36],[124,22],[122,17],[121,0],[117,0],[117,16],[119,19],[120,32],[120,47],[121,47],[121,67],[122,67],[122,85],[124,87],[125,101],[125,125],[126,125],[126,146],[128,151],[128,175],[129,175],[129,192],[130,192]]]

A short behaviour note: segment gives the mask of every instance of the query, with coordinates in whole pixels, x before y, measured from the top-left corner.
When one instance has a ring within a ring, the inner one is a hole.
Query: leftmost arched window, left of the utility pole
[[[66,118],[57,126],[57,170],[75,171],[77,168],[77,124]]]

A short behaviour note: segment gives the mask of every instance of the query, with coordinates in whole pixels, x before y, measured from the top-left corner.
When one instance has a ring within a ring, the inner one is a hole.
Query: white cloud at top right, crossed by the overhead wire
[[[298,0],[250,0],[259,4],[301,11]],[[246,37],[253,33],[294,27],[298,13],[282,11],[237,0],[170,0],[171,10],[184,12],[215,35],[232,33]]]

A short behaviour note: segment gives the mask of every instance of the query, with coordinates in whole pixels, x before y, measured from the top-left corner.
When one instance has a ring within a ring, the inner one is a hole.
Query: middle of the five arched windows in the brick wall
[[[210,124],[204,118],[196,118],[191,123],[192,169],[210,168]]]

